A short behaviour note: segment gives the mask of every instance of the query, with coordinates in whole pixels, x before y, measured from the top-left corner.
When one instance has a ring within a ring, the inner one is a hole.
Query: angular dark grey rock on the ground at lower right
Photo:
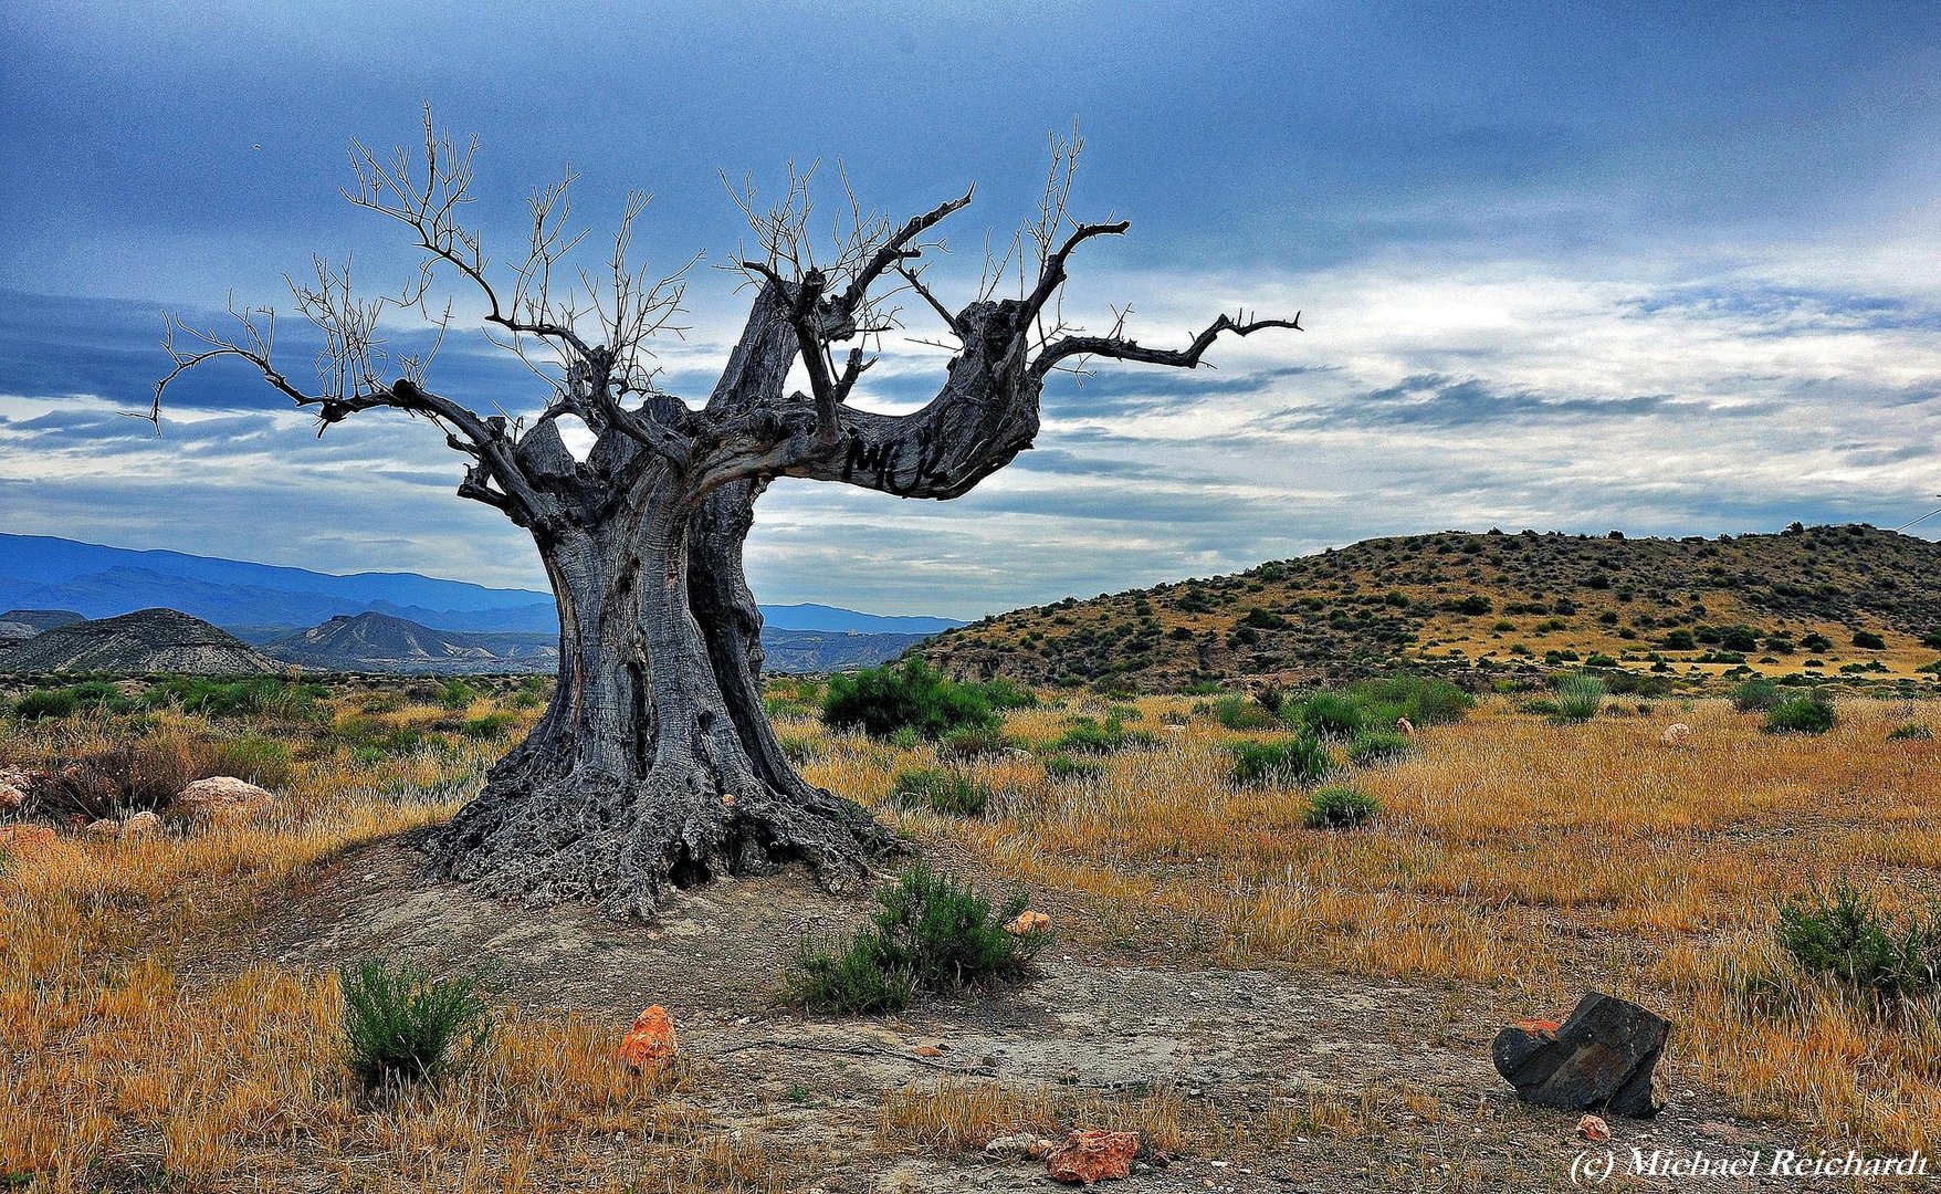
[[[1669,1037],[1665,1017],[1594,990],[1561,1025],[1504,1027],[1491,1054],[1526,1103],[1644,1118],[1665,1107],[1654,1068]]]

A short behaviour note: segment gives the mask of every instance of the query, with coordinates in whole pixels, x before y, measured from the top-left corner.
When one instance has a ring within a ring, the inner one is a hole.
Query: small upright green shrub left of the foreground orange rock
[[[429,1081],[462,1070],[491,1039],[476,977],[433,978],[415,963],[369,959],[338,971],[345,1064],[365,1087]]]

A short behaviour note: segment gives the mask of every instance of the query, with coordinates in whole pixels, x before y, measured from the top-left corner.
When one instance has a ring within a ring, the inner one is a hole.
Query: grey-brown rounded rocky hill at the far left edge
[[[101,621],[43,631],[0,652],[0,670],[43,672],[188,672],[264,676],[283,666],[235,635],[177,610],[138,610]]]

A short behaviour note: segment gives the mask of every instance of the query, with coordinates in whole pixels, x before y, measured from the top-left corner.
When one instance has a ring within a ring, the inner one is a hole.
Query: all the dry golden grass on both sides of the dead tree
[[[1299,788],[1229,782],[1229,744],[1271,734],[1221,730],[1190,699],[1137,705],[1161,746],[1104,757],[1097,780],[1048,780],[1029,753],[967,763],[998,794],[982,819],[883,804],[901,769],[943,765],[930,746],[833,736],[802,716],[778,728],[811,780],[918,839],[1089,897],[1097,914],[1062,926],[1077,945],[1163,934],[1205,961],[1448,980],[1516,1012],[1561,1012],[1596,984],[1681,1025],[1681,1081],[1828,1142],[1933,1144],[1941,1021],[1799,978],[1770,922],[1772,901],[1809,879],[1852,878],[1902,905],[1941,895],[1941,744],[1887,742],[1908,722],[1941,734],[1935,705],[1846,699],[1834,732],[1793,738],[1722,701],[1584,726],[1493,701],[1425,732],[1413,757],[1357,773],[1384,812],[1345,833],[1304,829]],[[212,957],[208,942],[291,876],[448,815],[509,742],[452,726],[495,709],[338,697],[309,726],[155,714],[144,734],[184,749],[258,757],[262,740],[287,744],[280,808],[202,833],[72,837],[50,864],[0,876],[0,1175],[35,1171],[49,1190],[254,1188],[299,1171],[345,1188],[518,1190],[646,1173],[652,1188],[701,1190],[780,1188],[800,1173],[802,1157],[712,1122],[695,1074],[625,1079],[611,1025],[571,1017],[507,1015],[470,1072],[371,1101],[338,1056],[328,975]],[[1042,746],[1068,716],[1102,711],[1023,711],[1007,732]],[[1673,720],[1693,728],[1689,746],[1661,744]],[[0,759],[87,753],[130,732],[16,726]],[[1314,1095],[1223,1122],[1165,1093],[945,1083],[893,1095],[881,1134],[953,1151],[1085,1116],[1139,1126],[1159,1147],[1244,1153],[1297,1132],[1353,1140],[1396,1111],[1370,1099]]]

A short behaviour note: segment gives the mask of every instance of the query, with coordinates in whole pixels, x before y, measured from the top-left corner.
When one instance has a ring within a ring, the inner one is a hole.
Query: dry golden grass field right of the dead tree
[[[1242,736],[1207,718],[1161,724],[1188,705],[1141,699],[1165,747],[1112,755],[1099,780],[1048,782],[1038,761],[1000,757],[970,765],[1000,792],[988,819],[883,813],[1002,874],[1101,899],[1101,940],[1159,909],[1168,934],[1221,961],[1481,984],[1528,1013],[1601,986],[1685,1025],[1681,1064],[1749,1112],[1828,1140],[1933,1144],[1931,1012],[1883,1019],[1819,988],[1772,1012],[1735,1002],[1729,978],[1795,982],[1766,942],[1774,901],[1807,881],[1846,878],[1902,905],[1941,895],[1941,746],[1887,742],[1908,722],[1941,736],[1933,703],[1842,701],[1840,724],[1807,738],[1762,734],[1724,701],[1584,726],[1493,701],[1429,730],[1413,757],[1355,773],[1384,813],[1349,833],[1304,829],[1299,788],[1234,788],[1227,744]],[[1044,742],[1075,711],[1009,728]],[[1661,744],[1671,722],[1693,728],[1689,746]],[[807,775],[873,802],[912,765],[936,759],[839,738]]]

